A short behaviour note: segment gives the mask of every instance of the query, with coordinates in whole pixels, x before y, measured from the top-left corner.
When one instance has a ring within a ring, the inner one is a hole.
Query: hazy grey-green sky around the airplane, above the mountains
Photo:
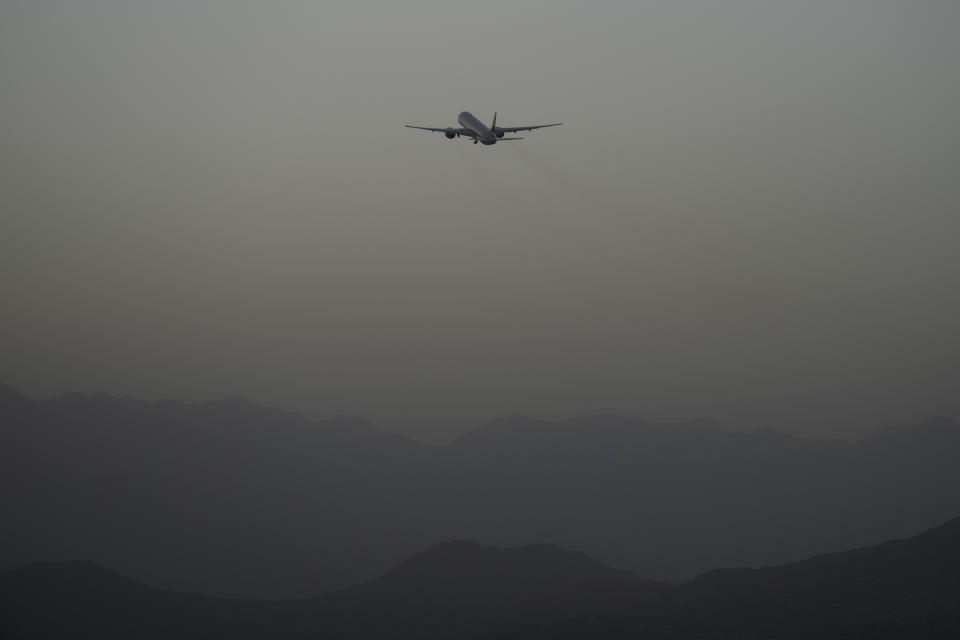
[[[0,381],[960,417],[955,0],[0,3]],[[404,124],[563,121],[494,147]]]

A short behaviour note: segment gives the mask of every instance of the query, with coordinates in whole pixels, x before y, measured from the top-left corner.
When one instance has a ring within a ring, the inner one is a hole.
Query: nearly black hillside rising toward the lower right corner
[[[960,518],[913,538],[764,569],[717,569],[628,614],[502,638],[960,637]]]

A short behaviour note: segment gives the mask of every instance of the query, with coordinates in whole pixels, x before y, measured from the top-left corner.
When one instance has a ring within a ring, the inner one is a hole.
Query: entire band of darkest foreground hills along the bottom
[[[317,598],[244,602],[153,589],[88,563],[0,575],[9,638],[960,637],[960,518],[913,538],[671,587],[551,545],[437,545]]]

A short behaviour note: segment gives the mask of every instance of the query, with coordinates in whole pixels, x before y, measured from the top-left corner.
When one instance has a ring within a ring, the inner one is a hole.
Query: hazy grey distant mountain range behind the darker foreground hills
[[[957,504],[960,425],[942,418],[849,444],[515,416],[430,446],[237,398],[0,389],[0,569],[85,557],[178,591],[304,596],[456,539],[676,582],[902,537]]]

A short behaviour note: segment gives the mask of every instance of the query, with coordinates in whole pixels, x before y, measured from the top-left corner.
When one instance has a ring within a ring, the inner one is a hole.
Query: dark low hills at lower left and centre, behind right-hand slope
[[[154,589],[91,563],[38,564],[0,576],[0,637],[467,638],[618,611],[669,589],[550,545],[446,543],[369,583],[282,603]]]

